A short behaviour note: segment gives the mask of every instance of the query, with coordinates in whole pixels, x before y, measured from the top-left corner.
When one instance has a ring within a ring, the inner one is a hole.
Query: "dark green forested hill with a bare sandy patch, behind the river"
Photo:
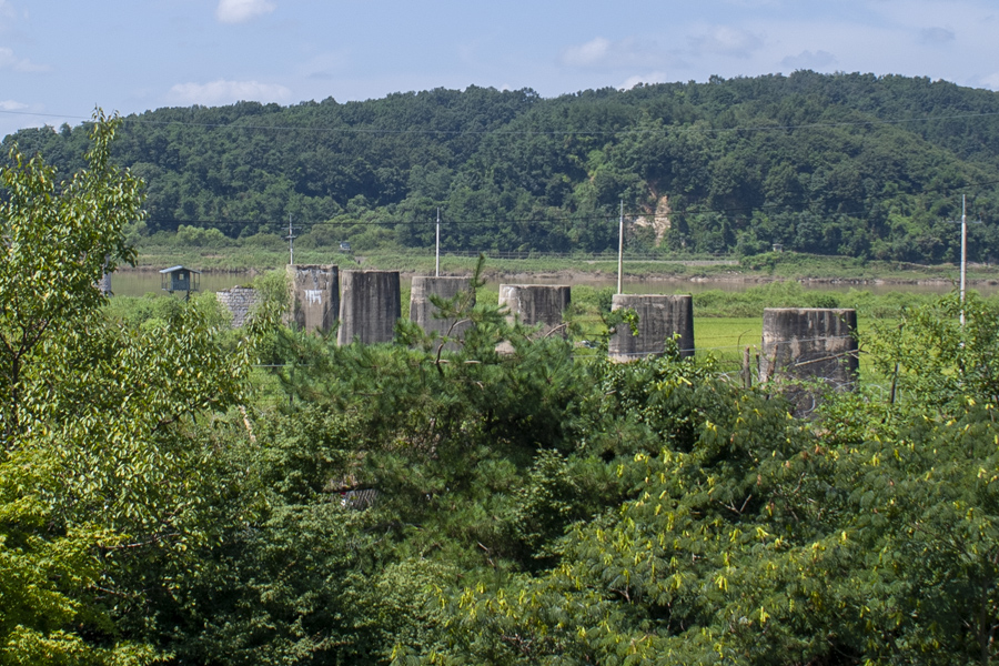
[[[591,90],[431,90],[129,117],[115,159],[148,183],[149,232],[281,233],[355,249],[598,252],[628,244],[953,261],[999,256],[999,94],[818,74]],[[60,170],[84,127],[7,137]],[[6,151],[4,151],[6,153]]]

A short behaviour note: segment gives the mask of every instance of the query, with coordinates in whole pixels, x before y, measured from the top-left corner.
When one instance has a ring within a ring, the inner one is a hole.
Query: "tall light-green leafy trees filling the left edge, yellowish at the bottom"
[[[135,326],[102,310],[95,282],[142,216],[141,183],[109,161],[118,124],[97,114],[69,181],[17,152],[2,171],[0,663],[164,657],[125,618],[221,505],[199,417],[238,400],[248,351],[202,303]]]

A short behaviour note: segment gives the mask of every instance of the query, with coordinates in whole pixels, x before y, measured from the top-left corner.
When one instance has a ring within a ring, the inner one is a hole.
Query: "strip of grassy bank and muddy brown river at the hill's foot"
[[[287,262],[287,249],[199,249],[139,245],[135,269],[123,272],[151,272],[183,264],[205,274],[234,274],[235,282],[251,281],[255,275],[283,268]],[[433,274],[434,256],[423,253],[365,253],[346,254],[332,250],[295,250],[296,263],[337,264],[341,270],[379,269],[400,271],[404,279]],[[476,259],[444,254],[441,271],[446,275],[467,275],[475,269]],[[527,259],[487,258],[484,278],[491,282],[519,282],[547,284],[589,284],[602,286],[616,284],[616,260],[593,256],[532,256]],[[871,289],[888,291],[894,287],[926,291],[949,291],[958,284],[959,268],[953,264],[936,266],[900,262],[862,261],[844,256],[803,255],[793,252],[769,253],[759,256],[710,259],[676,256],[648,260],[626,255],[623,281],[642,291],[659,286],[676,289],[689,285],[690,290],[723,289],[739,291],[774,282],[795,281],[806,289],[847,291]],[[972,264],[968,268],[968,286],[982,292],[999,291],[999,268]]]

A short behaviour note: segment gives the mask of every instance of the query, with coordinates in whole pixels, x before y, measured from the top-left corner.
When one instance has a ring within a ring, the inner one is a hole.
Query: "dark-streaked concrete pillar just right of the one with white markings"
[[[398,271],[344,271],[337,342],[392,342],[400,297]]]

